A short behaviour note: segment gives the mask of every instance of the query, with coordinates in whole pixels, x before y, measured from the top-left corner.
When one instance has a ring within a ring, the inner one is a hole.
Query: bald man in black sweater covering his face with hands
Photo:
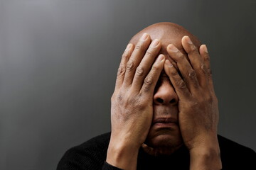
[[[256,154],[217,135],[206,45],[174,23],[134,35],[111,98],[112,132],[73,147],[58,169],[255,169]]]

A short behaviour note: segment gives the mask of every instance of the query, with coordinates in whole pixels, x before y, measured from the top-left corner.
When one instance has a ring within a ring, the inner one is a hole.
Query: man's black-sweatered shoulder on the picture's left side
[[[57,169],[102,169],[109,142],[110,132],[107,132],[68,149]]]

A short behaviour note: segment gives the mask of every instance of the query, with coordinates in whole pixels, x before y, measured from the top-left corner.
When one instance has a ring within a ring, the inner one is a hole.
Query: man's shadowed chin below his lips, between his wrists
[[[179,130],[149,130],[145,144],[149,147],[169,147],[175,148],[183,145],[181,132]]]

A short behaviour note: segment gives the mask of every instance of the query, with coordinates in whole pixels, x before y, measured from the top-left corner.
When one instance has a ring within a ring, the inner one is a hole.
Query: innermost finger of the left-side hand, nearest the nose
[[[142,85],[140,93],[153,96],[156,82],[159,79],[161,71],[164,69],[164,61],[164,55],[159,55],[159,57],[157,57],[156,62],[154,62],[153,66],[151,67],[149,74],[147,74],[146,78],[144,79],[144,84]]]

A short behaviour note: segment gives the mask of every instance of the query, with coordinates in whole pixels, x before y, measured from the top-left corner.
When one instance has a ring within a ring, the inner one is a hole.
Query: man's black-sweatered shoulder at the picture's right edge
[[[218,142],[223,169],[256,167],[256,153],[254,150],[220,135],[218,135]]]

